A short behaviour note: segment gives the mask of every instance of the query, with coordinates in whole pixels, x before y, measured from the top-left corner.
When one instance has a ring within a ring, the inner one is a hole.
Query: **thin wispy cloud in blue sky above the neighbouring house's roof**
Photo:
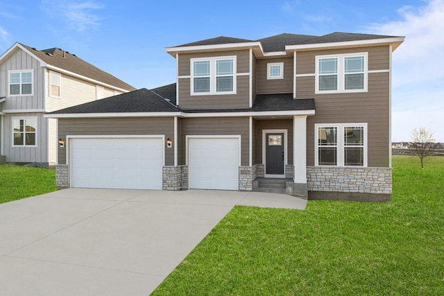
[[[42,9],[53,18],[62,17],[69,26],[82,33],[87,29],[97,28],[100,26],[100,17],[97,10],[101,10],[104,6],[93,1],[85,1],[78,3],[74,0],[43,0]]]

